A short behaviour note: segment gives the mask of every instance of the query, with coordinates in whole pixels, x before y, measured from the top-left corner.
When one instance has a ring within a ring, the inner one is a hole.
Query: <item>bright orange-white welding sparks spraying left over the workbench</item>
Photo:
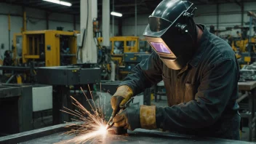
[[[89,87],[89,86],[88,86]],[[81,91],[84,93],[84,90],[81,89]],[[90,91],[90,89],[89,89]],[[90,91],[90,94],[92,96],[92,92]],[[97,103],[97,107],[95,105],[95,102],[92,97],[92,103],[89,102],[87,95],[84,96],[87,99],[87,102],[89,103],[90,107],[92,108],[92,113],[88,111],[86,108],[84,108],[81,103],[79,103],[74,97],[71,96],[71,99],[74,100],[73,105],[76,106],[76,108],[79,109],[79,111],[75,110],[72,111],[71,109],[65,108],[65,110],[60,110],[65,113],[71,114],[73,116],[76,116],[77,119],[72,119],[73,121],[78,121],[79,124],[71,124],[67,127],[78,127],[77,129],[73,129],[69,132],[65,132],[65,135],[72,135],[76,134],[76,137],[73,137],[71,140],[65,140],[60,143],[86,143],[89,140],[95,140],[96,138],[103,138],[105,139],[106,135],[108,135],[108,129],[106,125],[106,121],[104,119],[104,113],[103,113],[103,105],[100,101],[100,104]],[[101,97],[100,97],[101,98]],[[101,105],[101,108],[100,108]],[[87,115],[87,117],[86,117]]]

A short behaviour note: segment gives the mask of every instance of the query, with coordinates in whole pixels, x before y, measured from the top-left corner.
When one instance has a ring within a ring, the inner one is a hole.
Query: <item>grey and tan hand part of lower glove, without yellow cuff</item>
[[[114,127],[134,130],[140,128],[140,106],[132,105],[125,108],[113,118]]]

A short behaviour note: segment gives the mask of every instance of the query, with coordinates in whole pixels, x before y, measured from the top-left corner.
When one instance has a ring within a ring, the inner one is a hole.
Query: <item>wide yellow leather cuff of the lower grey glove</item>
[[[140,106],[140,126],[143,129],[156,129],[156,105]]]

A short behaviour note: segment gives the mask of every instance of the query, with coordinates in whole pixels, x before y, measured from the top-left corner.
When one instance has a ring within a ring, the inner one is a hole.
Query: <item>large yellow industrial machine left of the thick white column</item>
[[[35,81],[36,67],[76,64],[78,33],[55,30],[15,33],[12,50],[4,52],[4,63],[0,67],[4,78],[0,81],[31,83]],[[20,71],[21,68],[28,71]]]

